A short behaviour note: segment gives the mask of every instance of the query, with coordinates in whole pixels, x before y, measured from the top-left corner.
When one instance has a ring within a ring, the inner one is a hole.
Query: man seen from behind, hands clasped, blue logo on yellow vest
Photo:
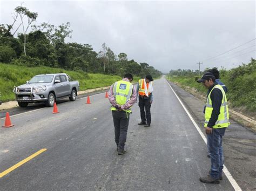
[[[124,149],[131,107],[136,101],[137,93],[131,81],[133,77],[126,73],[124,78],[116,81],[109,90],[109,101],[114,121],[114,141],[117,144],[118,155],[126,153]]]

